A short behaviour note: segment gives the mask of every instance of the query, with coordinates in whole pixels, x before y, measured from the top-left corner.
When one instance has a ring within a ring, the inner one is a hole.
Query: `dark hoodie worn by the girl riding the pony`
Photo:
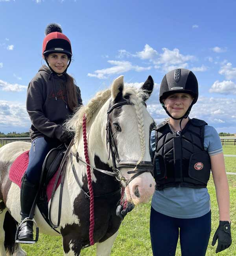
[[[81,106],[80,89],[76,89]],[[45,136],[60,139],[61,124],[73,113],[67,104],[66,76],[57,76],[43,65],[28,85],[26,109],[32,122],[31,140]]]

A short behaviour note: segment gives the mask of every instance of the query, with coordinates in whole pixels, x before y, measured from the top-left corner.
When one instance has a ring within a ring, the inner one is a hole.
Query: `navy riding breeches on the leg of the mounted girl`
[[[42,165],[48,152],[60,145],[57,139],[50,139],[48,137],[39,137],[32,141],[29,152],[29,165],[26,170],[26,177],[32,184],[38,185],[41,176]]]

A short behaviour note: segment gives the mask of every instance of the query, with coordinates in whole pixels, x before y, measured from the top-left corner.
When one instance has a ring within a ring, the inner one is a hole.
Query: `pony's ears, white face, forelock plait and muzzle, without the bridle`
[[[151,79],[153,88],[153,80]],[[150,85],[148,79],[142,89],[152,91],[148,87]],[[112,85],[113,101],[119,102],[122,100],[123,95],[123,76],[118,77]],[[145,87],[145,88],[144,88]],[[132,90],[131,90],[132,91]],[[131,93],[130,91],[130,93]],[[135,93],[135,89],[133,89]],[[126,91],[127,93],[127,91]],[[136,91],[137,94],[137,91]],[[151,94],[151,93],[150,93]],[[129,92],[127,93],[129,95]],[[142,98],[137,94],[133,96],[130,94],[130,101],[134,105],[123,105],[121,109],[114,109],[112,123],[113,135],[117,145],[117,151],[120,161],[151,161],[149,154],[149,137],[150,128],[153,126],[153,119],[147,112]],[[140,94],[142,95],[142,93]],[[147,96],[148,98],[149,96]],[[146,99],[147,99],[146,98]],[[120,129],[116,130],[116,126]],[[134,174],[128,174],[130,168],[122,168],[122,175],[129,180]],[[149,172],[140,174],[134,178],[125,189],[127,200],[134,204],[147,203],[155,190],[155,182],[153,176]]]

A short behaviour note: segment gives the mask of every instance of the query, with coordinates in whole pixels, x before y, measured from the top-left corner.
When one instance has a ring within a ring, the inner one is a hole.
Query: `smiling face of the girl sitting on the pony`
[[[47,57],[50,67],[58,74],[63,74],[68,66],[69,58],[64,53],[51,53]]]

